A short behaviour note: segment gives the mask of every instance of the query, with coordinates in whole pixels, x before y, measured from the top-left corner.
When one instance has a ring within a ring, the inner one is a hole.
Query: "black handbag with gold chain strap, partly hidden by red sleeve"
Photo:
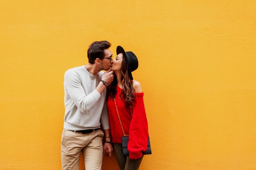
[[[116,105],[116,109],[117,109],[117,103],[116,103],[115,98],[114,98],[114,101],[115,101],[115,105]],[[118,118],[119,118],[119,121],[120,121],[120,124],[121,124],[121,128],[122,128],[123,133],[124,133],[124,128],[122,126],[118,110],[117,110],[117,115],[118,115]],[[127,149],[128,148],[128,142],[129,142],[129,135],[125,135],[125,133],[124,133],[124,137],[122,137],[122,154],[123,154],[123,157],[129,156],[129,150]],[[142,155],[149,155],[149,154],[152,154],[152,152],[151,152],[151,147],[150,147],[150,140],[149,140],[149,137],[148,137],[148,147],[145,151],[142,151]]]

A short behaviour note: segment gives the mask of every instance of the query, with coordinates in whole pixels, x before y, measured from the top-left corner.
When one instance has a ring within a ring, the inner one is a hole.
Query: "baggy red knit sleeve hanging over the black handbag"
[[[136,93],[136,102],[132,108],[132,120],[129,130],[128,150],[130,159],[142,157],[142,152],[148,144],[148,121],[144,107],[144,93]]]

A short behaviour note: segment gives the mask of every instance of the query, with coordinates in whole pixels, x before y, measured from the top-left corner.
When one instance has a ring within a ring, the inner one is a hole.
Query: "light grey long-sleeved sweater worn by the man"
[[[85,130],[109,129],[106,88],[103,93],[95,90],[101,81],[103,71],[92,75],[85,66],[71,68],[64,75],[64,128]],[[100,123],[101,122],[101,123]]]

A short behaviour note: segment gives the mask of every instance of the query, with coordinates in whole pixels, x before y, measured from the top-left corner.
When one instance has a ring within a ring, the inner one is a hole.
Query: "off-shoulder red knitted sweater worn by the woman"
[[[144,93],[136,93],[136,102],[133,103],[133,109],[126,108],[120,99],[122,89],[117,86],[117,95],[115,96],[118,113],[124,128],[125,135],[129,135],[128,150],[130,159],[142,157],[142,152],[147,148],[148,143],[148,121],[144,107]],[[120,121],[117,115],[114,99],[108,100],[108,118],[110,132],[113,143],[121,144],[121,137],[124,136]]]

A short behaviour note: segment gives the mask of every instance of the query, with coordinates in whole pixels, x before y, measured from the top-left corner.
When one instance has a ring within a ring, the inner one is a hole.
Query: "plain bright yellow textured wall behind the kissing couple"
[[[63,74],[94,40],[139,58],[141,170],[256,170],[254,0],[6,0],[0,14],[1,170],[61,169]]]

